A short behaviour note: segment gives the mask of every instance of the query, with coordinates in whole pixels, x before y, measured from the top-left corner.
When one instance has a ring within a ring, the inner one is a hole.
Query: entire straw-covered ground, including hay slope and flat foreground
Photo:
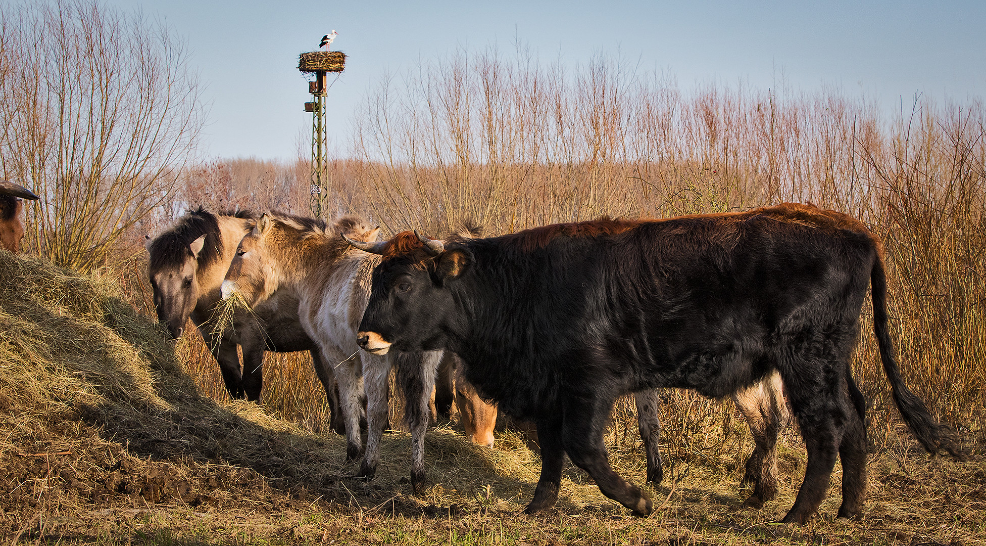
[[[736,423],[737,427],[741,423]],[[742,433],[741,429],[737,430]],[[895,437],[895,436],[893,436]],[[161,330],[111,281],[0,251],[0,531],[7,543],[877,544],[986,543],[986,464],[929,459],[903,434],[872,455],[862,522],[772,521],[794,501],[804,451],[782,447],[781,498],[740,508],[737,456],[675,452],[663,507],[637,519],[566,470],[558,506],[520,513],[538,473],[521,438],[477,448],[430,433],[410,495],[406,434],[387,434],[377,479],[349,478],[344,442],[201,396]],[[748,445],[745,448],[749,448]],[[641,453],[612,453],[643,482]]]

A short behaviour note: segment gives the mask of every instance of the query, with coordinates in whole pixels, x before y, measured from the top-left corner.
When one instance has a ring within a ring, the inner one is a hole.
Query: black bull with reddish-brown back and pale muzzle
[[[368,246],[368,245],[364,245]],[[859,221],[782,204],[668,220],[600,219],[443,244],[405,232],[373,245],[360,326],[368,351],[451,350],[467,379],[537,424],[533,512],[554,504],[564,453],[638,515],[651,500],[606,460],[613,401],[657,387],[725,397],[778,370],[808,449],[784,521],[804,522],[842,464],[840,517],[866,499],[866,403],[849,365],[872,283],[883,369],[907,425],[959,455],[903,384],[886,328],[880,242]]]

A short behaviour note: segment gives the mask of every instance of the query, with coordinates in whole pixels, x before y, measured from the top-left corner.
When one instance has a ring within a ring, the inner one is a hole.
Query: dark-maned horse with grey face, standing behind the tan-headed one
[[[230,396],[248,400],[260,397],[264,350],[310,351],[314,361],[321,360],[317,345],[299,326],[297,298],[276,298],[271,304],[256,306],[252,313],[238,313],[232,321],[234,328],[223,332],[213,320],[222,297],[220,286],[237,246],[255,223],[255,216],[246,211],[213,214],[198,207],[147,244],[158,319],[177,338],[191,318],[219,362]],[[243,348],[243,371],[237,345]],[[321,374],[319,379],[331,408],[331,426],[341,431],[335,380],[330,374]]]

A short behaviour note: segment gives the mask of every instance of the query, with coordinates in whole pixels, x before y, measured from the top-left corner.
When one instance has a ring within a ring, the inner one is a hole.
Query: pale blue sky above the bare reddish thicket
[[[688,89],[740,79],[766,88],[835,85],[909,104],[916,92],[960,103],[986,95],[986,2],[305,2],[106,0],[160,17],[188,43],[209,104],[203,155],[294,157],[311,115],[298,54],[335,29],[348,55],[328,96],[329,138],[384,74],[457,47],[515,39],[545,60],[602,51],[663,69]],[[330,144],[331,146],[332,144]],[[307,150],[307,144],[304,144]]]

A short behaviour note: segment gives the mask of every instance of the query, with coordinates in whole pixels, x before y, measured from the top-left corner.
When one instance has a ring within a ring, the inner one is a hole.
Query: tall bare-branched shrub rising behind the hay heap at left
[[[183,44],[97,0],[0,8],[0,174],[35,190],[26,241],[76,270],[167,203],[203,121]]]

